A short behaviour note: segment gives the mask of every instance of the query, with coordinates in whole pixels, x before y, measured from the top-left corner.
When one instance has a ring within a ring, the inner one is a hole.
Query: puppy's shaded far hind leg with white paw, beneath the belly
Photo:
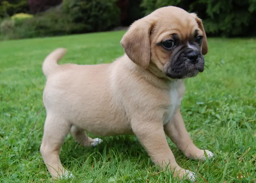
[[[102,141],[99,138],[92,139],[88,137],[85,131],[82,128],[78,128],[77,126],[71,126],[70,133],[73,138],[84,147],[96,146]]]

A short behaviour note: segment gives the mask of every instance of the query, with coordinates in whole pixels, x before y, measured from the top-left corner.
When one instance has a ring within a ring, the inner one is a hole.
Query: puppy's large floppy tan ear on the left
[[[150,61],[150,31],[153,21],[144,17],[135,21],[124,34],[121,45],[126,55],[137,65],[147,68]]]

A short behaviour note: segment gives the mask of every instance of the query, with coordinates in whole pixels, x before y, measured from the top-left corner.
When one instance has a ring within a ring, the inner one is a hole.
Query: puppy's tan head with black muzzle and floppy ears
[[[202,20],[195,13],[167,6],[135,21],[121,45],[137,65],[150,63],[172,79],[196,76],[204,71],[208,52]]]

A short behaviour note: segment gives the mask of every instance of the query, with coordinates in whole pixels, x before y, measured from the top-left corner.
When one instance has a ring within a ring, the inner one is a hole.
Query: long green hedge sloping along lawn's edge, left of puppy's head
[[[1,39],[33,38],[108,31],[120,24],[120,11],[116,0],[63,0],[33,18],[3,21]]]

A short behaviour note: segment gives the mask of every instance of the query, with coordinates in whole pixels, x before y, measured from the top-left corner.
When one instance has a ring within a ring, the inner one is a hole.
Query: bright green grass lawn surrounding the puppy
[[[123,34],[0,42],[0,182],[51,181],[39,152],[45,110],[36,116],[43,107],[44,57],[65,47],[68,53],[61,63],[109,63],[123,54],[119,44]],[[197,173],[197,182],[256,182],[256,40],[208,40],[208,72],[185,81],[181,110],[196,146],[211,150],[215,158],[187,160],[168,142],[180,166]],[[156,174],[157,168],[133,136],[103,140],[98,147],[84,148],[68,135],[60,158],[75,178],[60,182],[180,182],[171,172]],[[241,175],[244,178],[239,179]]]

